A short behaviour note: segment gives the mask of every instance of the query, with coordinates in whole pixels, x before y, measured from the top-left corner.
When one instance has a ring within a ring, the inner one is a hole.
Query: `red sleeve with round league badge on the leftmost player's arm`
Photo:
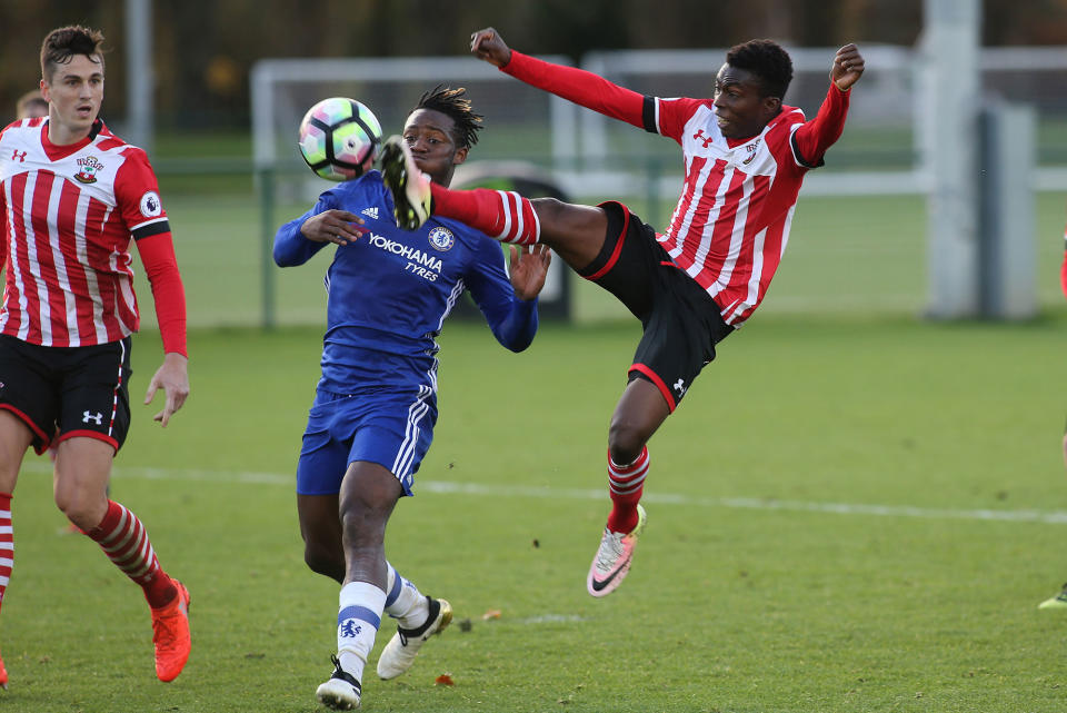
[[[126,161],[114,180],[118,209],[137,242],[137,251],[152,288],[163,351],[187,356],[186,290],[156,174],[141,149],[130,147],[123,157]]]

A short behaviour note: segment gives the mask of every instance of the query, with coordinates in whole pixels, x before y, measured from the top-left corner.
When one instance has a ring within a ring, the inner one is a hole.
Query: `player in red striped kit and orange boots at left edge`
[[[160,567],[144,525],[107,496],[130,424],[130,335],[138,329],[130,239],[152,287],[163,364],[166,426],[189,395],[186,301],[156,176],[139,148],[98,118],[103,36],[64,27],[41,46],[46,118],[0,132],[6,263],[0,310],[0,603],[14,548],[11,503],[22,458],[57,444],[56,504],[130,580],[152,617],[156,674],[172,681],[189,656],[189,593]],[[8,674],[0,663],[0,683]]]

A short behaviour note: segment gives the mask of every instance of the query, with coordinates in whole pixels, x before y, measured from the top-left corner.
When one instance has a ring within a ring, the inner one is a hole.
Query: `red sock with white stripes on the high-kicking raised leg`
[[[438,184],[430,184],[430,190],[435,216],[459,220],[501,242],[534,245],[541,235],[534,204],[513,190],[450,190]]]

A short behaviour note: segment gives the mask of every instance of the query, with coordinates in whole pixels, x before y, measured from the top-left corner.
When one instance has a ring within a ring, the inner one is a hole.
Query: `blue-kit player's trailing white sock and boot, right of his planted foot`
[[[389,563],[387,563],[389,564]],[[386,613],[397,620],[397,633],[378,658],[378,675],[385,680],[396,679],[415,663],[430,636],[440,634],[452,621],[452,607],[445,600],[435,600],[421,594],[389,564]]]

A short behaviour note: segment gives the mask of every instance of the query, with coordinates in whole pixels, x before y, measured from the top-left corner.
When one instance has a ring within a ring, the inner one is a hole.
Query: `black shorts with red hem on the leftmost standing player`
[[[0,408],[33,432],[33,448],[99,438],[118,450],[130,429],[130,338],[42,347],[0,335]]]

